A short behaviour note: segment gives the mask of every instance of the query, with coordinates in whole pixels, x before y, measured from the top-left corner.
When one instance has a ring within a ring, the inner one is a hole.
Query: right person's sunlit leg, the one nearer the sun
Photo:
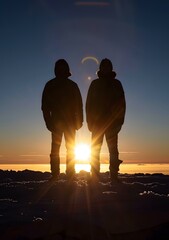
[[[93,177],[99,178],[100,173],[100,151],[103,143],[104,133],[95,129],[92,132],[92,146],[91,146],[91,174]]]

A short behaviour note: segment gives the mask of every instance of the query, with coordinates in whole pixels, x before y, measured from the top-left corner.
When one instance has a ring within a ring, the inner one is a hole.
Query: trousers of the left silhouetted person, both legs
[[[74,160],[74,145],[75,145],[75,129],[66,128],[58,129],[52,132],[50,165],[52,175],[60,173],[60,146],[62,138],[65,138],[66,145],[66,174],[73,175],[75,173],[75,160]]]

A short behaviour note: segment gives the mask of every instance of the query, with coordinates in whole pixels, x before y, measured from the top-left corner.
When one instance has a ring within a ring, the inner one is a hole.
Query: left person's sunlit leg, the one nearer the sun
[[[67,128],[64,131],[66,144],[66,175],[72,178],[75,174],[75,129]]]

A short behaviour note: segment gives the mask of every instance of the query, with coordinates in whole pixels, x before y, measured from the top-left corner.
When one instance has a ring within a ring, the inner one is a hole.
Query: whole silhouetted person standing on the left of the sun
[[[69,79],[68,63],[59,59],[55,63],[55,78],[48,81],[42,94],[42,111],[47,129],[51,132],[50,166],[52,179],[60,173],[60,146],[62,137],[66,145],[66,175],[75,174],[74,145],[76,130],[82,127],[83,105],[78,85]]]

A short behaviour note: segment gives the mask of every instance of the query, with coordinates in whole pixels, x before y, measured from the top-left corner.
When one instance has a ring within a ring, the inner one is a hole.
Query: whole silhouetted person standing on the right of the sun
[[[100,151],[105,136],[110,158],[110,177],[119,181],[118,133],[124,123],[126,101],[122,84],[117,80],[113,65],[107,58],[100,63],[98,78],[93,80],[86,99],[86,118],[92,133],[91,176],[99,180]]]

